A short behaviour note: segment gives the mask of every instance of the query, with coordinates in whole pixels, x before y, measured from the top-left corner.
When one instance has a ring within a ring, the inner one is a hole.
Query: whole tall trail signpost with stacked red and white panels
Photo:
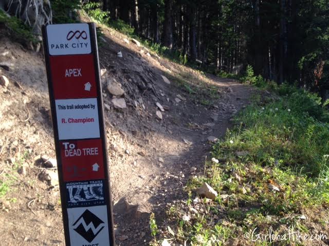
[[[96,27],[43,27],[66,245],[114,246]]]

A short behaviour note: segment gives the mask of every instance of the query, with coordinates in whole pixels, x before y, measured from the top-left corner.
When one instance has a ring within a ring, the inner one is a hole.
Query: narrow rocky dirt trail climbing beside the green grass
[[[251,88],[231,79],[208,76],[218,86],[227,88],[228,93],[216,102],[218,108],[204,110],[203,107],[186,105],[185,116],[182,116],[183,112],[178,113],[181,121],[178,126],[172,126],[172,134],[157,138],[157,152],[160,154],[156,157],[163,158],[164,163],[157,169],[150,170],[148,166],[141,169],[138,176],[147,179],[145,185],[136,186],[115,205],[118,245],[148,245],[149,213],[154,212],[161,221],[165,208],[183,197],[186,199],[182,191],[186,181],[191,175],[203,172],[205,159],[211,156],[211,144],[207,138],[221,138],[232,126],[232,115],[248,104]],[[196,129],[187,128],[186,122],[192,122]],[[127,236],[128,239],[123,240]]]

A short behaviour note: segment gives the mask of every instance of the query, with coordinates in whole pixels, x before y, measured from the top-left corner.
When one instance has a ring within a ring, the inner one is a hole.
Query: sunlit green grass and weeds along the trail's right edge
[[[204,175],[189,180],[187,201],[168,211],[174,236],[167,230],[158,242],[170,237],[182,245],[224,245],[238,238],[239,245],[272,245],[268,238],[252,241],[245,235],[269,228],[278,235],[288,228],[311,235],[314,225],[328,235],[323,222],[329,205],[328,111],[315,94],[287,85],[275,90],[278,96],[254,96],[236,116],[235,127],[213,146],[213,157],[225,161],[207,161]],[[218,196],[193,202],[204,182]],[[304,214],[318,218],[303,220]],[[191,219],[183,221],[184,215]],[[289,239],[278,245],[287,244],[303,245]]]

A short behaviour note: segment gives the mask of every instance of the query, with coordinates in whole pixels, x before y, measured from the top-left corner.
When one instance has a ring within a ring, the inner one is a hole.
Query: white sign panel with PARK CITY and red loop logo
[[[59,24],[47,26],[47,38],[50,55],[89,54],[89,26],[86,23]]]

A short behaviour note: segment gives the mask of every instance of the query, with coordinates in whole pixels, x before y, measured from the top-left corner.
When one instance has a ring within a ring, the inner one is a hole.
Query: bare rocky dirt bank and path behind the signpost
[[[161,219],[166,206],[182,198],[189,176],[202,172],[209,158],[207,138],[225,133],[251,89],[159,58],[126,43],[116,31],[103,28],[103,34],[99,53],[106,69],[102,83],[109,106],[105,119],[117,244],[148,245],[150,213]],[[40,159],[54,157],[43,57],[0,34],[0,65],[0,75],[10,80],[8,88],[0,86],[0,185],[8,187],[0,198],[2,245],[64,245],[58,186],[41,178],[45,170],[56,173]],[[125,109],[111,103],[106,86],[113,78],[125,91]],[[162,120],[157,102],[168,109]]]

